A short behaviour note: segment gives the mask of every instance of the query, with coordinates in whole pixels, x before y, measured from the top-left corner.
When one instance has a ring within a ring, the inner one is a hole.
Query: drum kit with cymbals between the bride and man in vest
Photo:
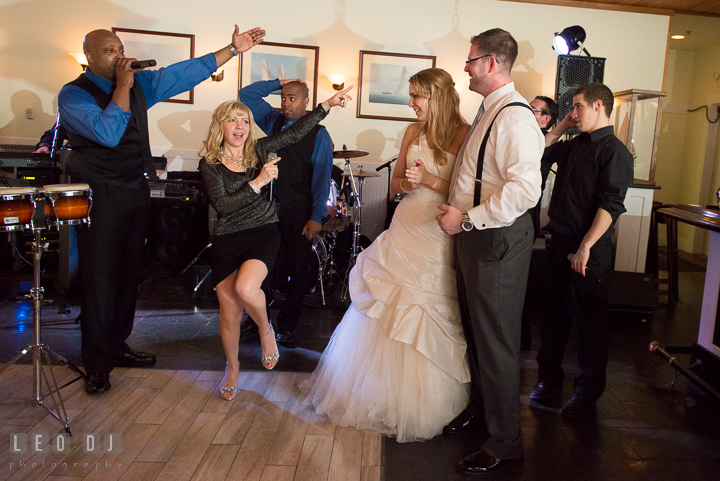
[[[332,283],[342,275],[342,293],[340,299],[345,301],[348,297],[350,271],[355,265],[358,254],[362,251],[360,245],[360,228],[362,225],[362,189],[367,179],[380,177],[377,172],[363,170],[362,165],[353,170],[350,159],[364,157],[368,152],[364,150],[343,150],[333,152],[334,159],[345,159],[343,180],[341,187],[334,180],[330,181],[330,195],[328,196],[328,217],[323,221],[320,234],[313,240],[313,252],[317,257],[317,283],[320,285],[322,303],[325,305],[325,284]],[[358,182],[355,182],[355,179]],[[335,259],[336,250],[342,250],[338,244],[338,234],[346,228],[352,228],[352,243],[348,249],[349,259],[344,272],[338,271]]]

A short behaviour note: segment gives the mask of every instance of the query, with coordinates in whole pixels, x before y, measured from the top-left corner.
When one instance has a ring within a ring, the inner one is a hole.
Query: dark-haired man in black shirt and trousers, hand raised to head
[[[550,247],[548,309],[541,323],[538,383],[530,399],[558,396],[563,382],[563,353],[572,332],[582,374],[562,415],[590,414],[605,389],[608,319],[605,277],[612,269],[613,224],[633,182],[633,157],[610,125],[613,94],[603,84],[574,92],[573,110],[546,136],[542,162],[557,162],[550,200],[553,234]],[[556,141],[577,127],[580,135]]]

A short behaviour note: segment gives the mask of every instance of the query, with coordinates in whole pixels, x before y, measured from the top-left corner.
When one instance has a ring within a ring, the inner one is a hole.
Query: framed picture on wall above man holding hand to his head
[[[317,72],[320,47],[292,45],[288,43],[263,42],[252,50],[240,54],[238,90],[259,80],[304,80],[308,85],[310,102],[308,109],[317,103]],[[265,100],[276,109],[280,108],[280,90],[275,90]]]

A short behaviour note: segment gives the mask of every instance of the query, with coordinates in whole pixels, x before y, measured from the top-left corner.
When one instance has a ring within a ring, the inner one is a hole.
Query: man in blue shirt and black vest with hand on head
[[[264,98],[281,87],[278,112]],[[285,130],[305,115],[309,100],[307,85],[297,79],[259,81],[240,90],[240,101],[250,108],[255,122],[268,135]],[[279,204],[282,237],[282,259],[278,264],[286,267],[290,277],[285,305],[278,316],[277,340],[292,347],[303,298],[312,287],[313,276],[309,273],[312,239],[327,216],[332,140],[325,127],[319,125],[300,142],[277,154],[282,157],[273,191]]]

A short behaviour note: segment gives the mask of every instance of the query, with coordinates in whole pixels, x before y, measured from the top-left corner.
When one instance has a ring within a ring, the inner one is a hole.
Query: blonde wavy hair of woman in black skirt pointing
[[[203,148],[198,152],[200,157],[205,156],[205,161],[208,164],[222,162],[220,149],[222,149],[223,142],[225,142],[223,124],[240,114],[247,115],[250,120],[250,130],[247,139],[245,139],[245,145],[243,146],[245,168],[254,169],[257,167],[258,158],[257,154],[255,154],[255,142],[257,139],[265,137],[265,134],[255,123],[250,109],[238,100],[223,102],[213,111],[207,138],[203,142]]]

